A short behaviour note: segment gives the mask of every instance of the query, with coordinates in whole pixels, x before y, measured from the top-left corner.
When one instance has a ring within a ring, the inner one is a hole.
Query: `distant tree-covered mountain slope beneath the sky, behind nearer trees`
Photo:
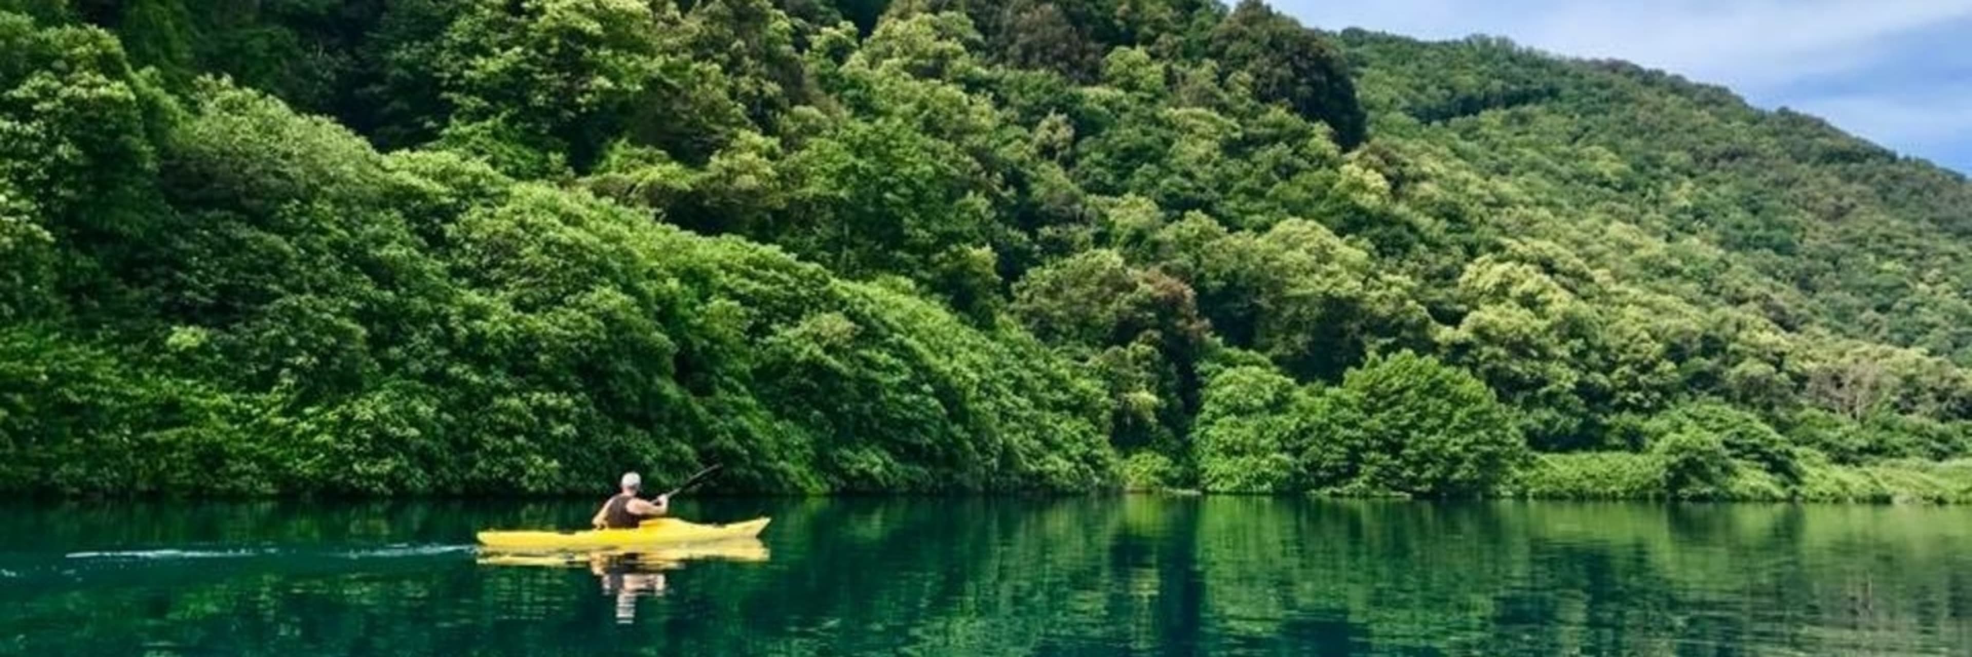
[[[1382,136],[1447,148],[1503,187],[1540,189],[1532,201],[1570,219],[1714,245],[1759,274],[1763,298],[1704,292],[1751,302],[1783,328],[1972,357],[1964,176],[1621,61],[1568,61],[1499,39],[1424,43],[1359,30],[1343,39]]]

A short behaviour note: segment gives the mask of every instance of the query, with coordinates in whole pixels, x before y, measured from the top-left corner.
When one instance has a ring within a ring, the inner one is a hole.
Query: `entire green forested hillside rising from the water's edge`
[[[1191,0],[0,0],[0,489],[1972,499],[1972,183]]]

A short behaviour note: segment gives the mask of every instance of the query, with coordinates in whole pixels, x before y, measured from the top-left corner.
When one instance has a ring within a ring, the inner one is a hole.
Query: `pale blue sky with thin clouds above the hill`
[[[1613,57],[1972,174],[1972,0],[1272,0],[1321,30]]]

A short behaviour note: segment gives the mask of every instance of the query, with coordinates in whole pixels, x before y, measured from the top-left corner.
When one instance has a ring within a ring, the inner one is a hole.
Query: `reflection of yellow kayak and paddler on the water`
[[[637,621],[637,598],[663,596],[669,582],[665,570],[682,568],[692,560],[765,562],[767,545],[759,539],[728,539],[667,547],[639,547],[592,552],[525,554],[481,552],[485,566],[546,566],[588,568],[601,582],[603,596],[615,598],[617,623]]]

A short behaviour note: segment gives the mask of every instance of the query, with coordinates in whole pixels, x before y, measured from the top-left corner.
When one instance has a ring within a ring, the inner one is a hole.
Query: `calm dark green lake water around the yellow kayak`
[[[1972,509],[720,499],[678,511],[773,515],[751,556],[469,545],[592,511],[0,505],[0,653],[1972,655]]]

